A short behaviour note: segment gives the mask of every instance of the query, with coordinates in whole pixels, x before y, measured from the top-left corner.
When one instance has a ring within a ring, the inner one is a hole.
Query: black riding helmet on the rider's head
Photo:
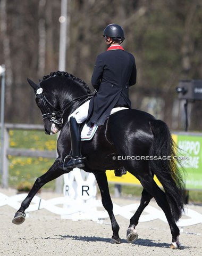
[[[103,36],[105,38],[106,36],[110,36],[114,39],[114,41],[120,41],[121,43],[125,39],[122,27],[114,23],[106,26],[103,31]]]

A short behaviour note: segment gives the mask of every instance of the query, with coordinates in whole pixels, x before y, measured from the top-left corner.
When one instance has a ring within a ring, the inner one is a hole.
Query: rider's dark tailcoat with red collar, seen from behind
[[[136,63],[131,53],[119,49],[98,55],[91,78],[97,92],[90,100],[88,126],[91,123],[103,125],[116,104],[131,108],[129,86],[136,84],[136,75]]]

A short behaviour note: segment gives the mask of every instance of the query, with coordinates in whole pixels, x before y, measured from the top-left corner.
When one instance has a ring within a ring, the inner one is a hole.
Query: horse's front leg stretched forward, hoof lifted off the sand
[[[12,220],[14,224],[21,224],[24,222],[26,214],[24,211],[29,207],[33,197],[37,194],[38,190],[43,187],[47,182],[58,178],[64,173],[62,170],[61,161],[57,158],[51,168],[43,174],[41,177],[37,178],[32,189],[30,190],[28,196],[21,203],[20,209],[15,213],[15,216]]]

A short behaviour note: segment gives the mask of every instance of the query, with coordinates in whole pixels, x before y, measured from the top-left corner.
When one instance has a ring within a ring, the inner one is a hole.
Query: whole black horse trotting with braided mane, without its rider
[[[35,90],[36,103],[43,114],[45,133],[56,133],[58,130],[61,132],[57,140],[58,157],[51,168],[35,181],[30,193],[15,213],[12,221],[15,224],[21,224],[25,220],[24,211],[37,191],[47,182],[66,172],[63,169],[63,162],[71,150],[68,116],[81,103],[92,97],[87,84],[61,71],[44,76],[39,84],[33,83],[30,79],[28,82]],[[184,181],[174,160],[174,142],[163,121],[136,109],[118,111],[110,115],[104,125],[98,127],[92,140],[82,141],[82,155],[86,157],[83,170],[95,174],[103,206],[111,219],[114,243],[121,243],[121,239],[119,225],[113,214],[105,170],[124,166],[144,188],[140,206],[130,219],[127,241],[136,241],[138,234],[135,228],[139,217],[154,197],[169,222],[172,234],[171,248],[180,248],[180,232],[175,222],[179,220],[183,211]],[[134,156],[139,156],[140,160],[135,161]],[[155,183],[155,174],[165,192]]]

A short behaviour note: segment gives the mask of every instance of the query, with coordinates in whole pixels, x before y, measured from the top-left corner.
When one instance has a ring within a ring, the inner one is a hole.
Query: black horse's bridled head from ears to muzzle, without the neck
[[[43,88],[43,83],[35,84],[29,78],[28,83],[35,91],[35,100],[40,108],[46,134],[55,134],[62,127],[62,113],[58,102],[51,92]]]

